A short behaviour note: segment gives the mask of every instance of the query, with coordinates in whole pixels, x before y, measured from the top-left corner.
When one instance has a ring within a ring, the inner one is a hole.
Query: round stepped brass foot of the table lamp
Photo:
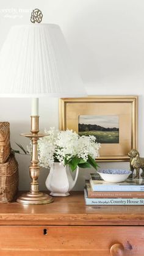
[[[48,196],[43,192],[38,192],[35,194],[32,194],[32,192],[26,192],[18,197],[16,201],[18,203],[23,203],[24,205],[43,205],[46,203],[51,203],[53,200],[54,199],[52,199],[51,196]]]

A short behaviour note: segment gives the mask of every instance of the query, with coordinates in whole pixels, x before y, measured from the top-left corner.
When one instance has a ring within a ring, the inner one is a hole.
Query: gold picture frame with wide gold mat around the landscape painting
[[[128,152],[132,148],[137,149],[137,111],[137,96],[61,98],[59,100],[59,129],[72,129],[78,132],[79,122],[81,122],[79,120],[82,117],[88,117],[88,119],[89,117],[118,117],[118,142],[104,142],[96,161],[129,161]]]

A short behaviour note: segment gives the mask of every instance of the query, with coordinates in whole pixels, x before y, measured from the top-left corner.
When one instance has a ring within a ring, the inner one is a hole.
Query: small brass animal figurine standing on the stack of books
[[[132,149],[128,156],[130,157],[130,168],[132,171],[130,177],[132,177],[135,169],[136,176],[134,178],[140,178],[140,169],[142,169],[141,178],[144,178],[144,158],[140,158],[140,154],[136,149]]]

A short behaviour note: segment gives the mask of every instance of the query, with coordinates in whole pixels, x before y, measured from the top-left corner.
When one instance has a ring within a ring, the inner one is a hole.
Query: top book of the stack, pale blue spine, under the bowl
[[[98,174],[90,174],[90,185],[93,191],[144,191],[144,180],[132,179],[118,183],[110,183],[101,179]]]

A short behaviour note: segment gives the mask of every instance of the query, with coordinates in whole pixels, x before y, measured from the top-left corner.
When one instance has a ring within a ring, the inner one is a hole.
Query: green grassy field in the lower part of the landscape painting
[[[119,143],[119,131],[79,131],[79,135],[93,135],[101,144]]]

